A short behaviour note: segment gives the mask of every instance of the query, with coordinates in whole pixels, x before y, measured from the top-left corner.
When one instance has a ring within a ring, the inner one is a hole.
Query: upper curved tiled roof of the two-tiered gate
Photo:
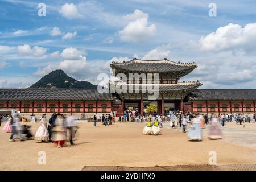
[[[176,63],[167,59],[163,60],[141,60],[133,59],[123,62],[112,62],[110,67],[118,72],[135,73],[177,73],[179,76],[187,75],[197,67],[195,63]]]

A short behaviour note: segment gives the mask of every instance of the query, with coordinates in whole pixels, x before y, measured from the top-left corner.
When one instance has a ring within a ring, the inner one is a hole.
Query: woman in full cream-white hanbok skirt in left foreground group
[[[38,128],[38,131],[36,131],[35,134],[35,140],[46,142],[49,139],[49,133],[47,130],[47,124],[46,124],[46,114],[43,114],[42,118],[40,119],[41,125]]]

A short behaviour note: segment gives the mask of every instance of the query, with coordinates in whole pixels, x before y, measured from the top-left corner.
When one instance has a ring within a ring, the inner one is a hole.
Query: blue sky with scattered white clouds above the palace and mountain
[[[55,69],[96,84],[111,61],[133,57],[195,61],[181,81],[201,88],[255,88],[255,10],[238,0],[0,0],[0,88],[26,88]]]

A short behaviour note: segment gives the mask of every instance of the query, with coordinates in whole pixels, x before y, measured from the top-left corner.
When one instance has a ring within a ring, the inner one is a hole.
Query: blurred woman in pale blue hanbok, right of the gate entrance
[[[188,132],[189,141],[201,141],[203,140],[202,131],[201,131],[201,117],[200,113],[195,113],[195,117],[191,120],[191,127]]]

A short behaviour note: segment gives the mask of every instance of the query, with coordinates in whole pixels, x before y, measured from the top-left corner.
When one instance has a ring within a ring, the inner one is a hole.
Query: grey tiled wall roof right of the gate
[[[256,89],[197,89],[190,100],[256,100]]]

